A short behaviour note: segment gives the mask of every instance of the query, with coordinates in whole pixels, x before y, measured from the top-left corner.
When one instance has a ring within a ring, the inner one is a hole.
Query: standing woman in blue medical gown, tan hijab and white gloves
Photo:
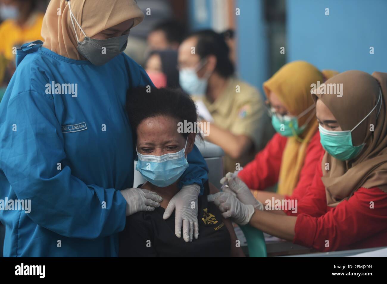
[[[132,188],[136,152],[125,113],[130,88],[153,87],[122,53],[143,18],[134,0],[51,0],[45,43],[17,50],[0,104],[4,256],[115,257],[125,216],[159,206],[160,196]],[[176,210],[176,236],[190,241],[208,168],[197,148],[187,160],[164,218]],[[15,199],[26,200],[24,210],[10,206]]]

